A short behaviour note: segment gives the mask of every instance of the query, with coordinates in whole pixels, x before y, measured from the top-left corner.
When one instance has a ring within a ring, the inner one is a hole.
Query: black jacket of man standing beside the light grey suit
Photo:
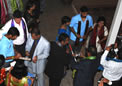
[[[46,65],[45,73],[48,77],[63,77],[64,67],[70,62],[70,57],[65,48],[60,47],[56,42],[51,42],[50,55]]]

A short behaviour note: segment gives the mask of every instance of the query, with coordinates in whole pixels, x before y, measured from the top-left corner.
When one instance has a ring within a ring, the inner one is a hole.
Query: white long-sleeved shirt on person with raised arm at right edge
[[[104,54],[101,57],[101,64],[104,67],[103,77],[110,81],[120,80],[122,77],[122,61],[106,60],[109,51],[105,50]]]

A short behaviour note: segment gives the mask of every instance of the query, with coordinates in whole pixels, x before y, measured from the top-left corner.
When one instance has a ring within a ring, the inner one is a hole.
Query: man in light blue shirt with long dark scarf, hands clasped
[[[81,21],[80,35],[77,34],[79,21]],[[81,44],[83,39],[86,38],[85,29],[87,21],[88,21],[88,29],[91,30],[93,27],[92,17],[88,14],[88,8],[86,6],[82,6],[80,8],[80,13],[73,16],[70,22],[71,27],[70,39],[72,45],[75,43],[77,37],[79,38],[80,42],[79,44]],[[79,48],[81,48],[81,46]]]

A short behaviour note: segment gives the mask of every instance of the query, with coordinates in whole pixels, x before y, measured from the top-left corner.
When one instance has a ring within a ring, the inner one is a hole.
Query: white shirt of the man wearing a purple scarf
[[[25,19],[24,19],[24,18],[22,18],[22,19],[23,19],[23,21],[24,21],[24,23],[25,23],[25,25],[26,25],[26,31],[27,31],[27,36],[28,36],[27,24],[26,24],[26,22],[25,22]],[[20,35],[13,41],[13,43],[14,43],[15,45],[21,45],[21,44],[23,44],[23,43],[25,42],[24,30],[23,30],[23,26],[22,26],[22,21],[20,22],[20,25],[17,24],[15,21],[13,21],[13,22],[14,22],[14,26],[19,30],[19,33],[20,33]],[[3,27],[1,28],[2,30],[0,31],[0,34],[7,33],[8,30],[10,29],[10,27],[11,27],[11,23],[12,23],[12,19],[9,20],[9,21],[5,24],[5,26],[3,26]]]

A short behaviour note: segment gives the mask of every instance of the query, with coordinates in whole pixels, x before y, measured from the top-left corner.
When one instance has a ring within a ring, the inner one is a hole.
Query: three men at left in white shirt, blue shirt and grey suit
[[[29,56],[32,61],[26,62],[26,66],[29,72],[37,75],[38,86],[44,86],[43,72],[50,44],[41,36],[39,29],[32,30],[31,35],[28,33],[26,21],[19,10],[14,12],[13,17],[0,31],[0,54],[6,58],[3,67],[9,67],[14,59]]]

